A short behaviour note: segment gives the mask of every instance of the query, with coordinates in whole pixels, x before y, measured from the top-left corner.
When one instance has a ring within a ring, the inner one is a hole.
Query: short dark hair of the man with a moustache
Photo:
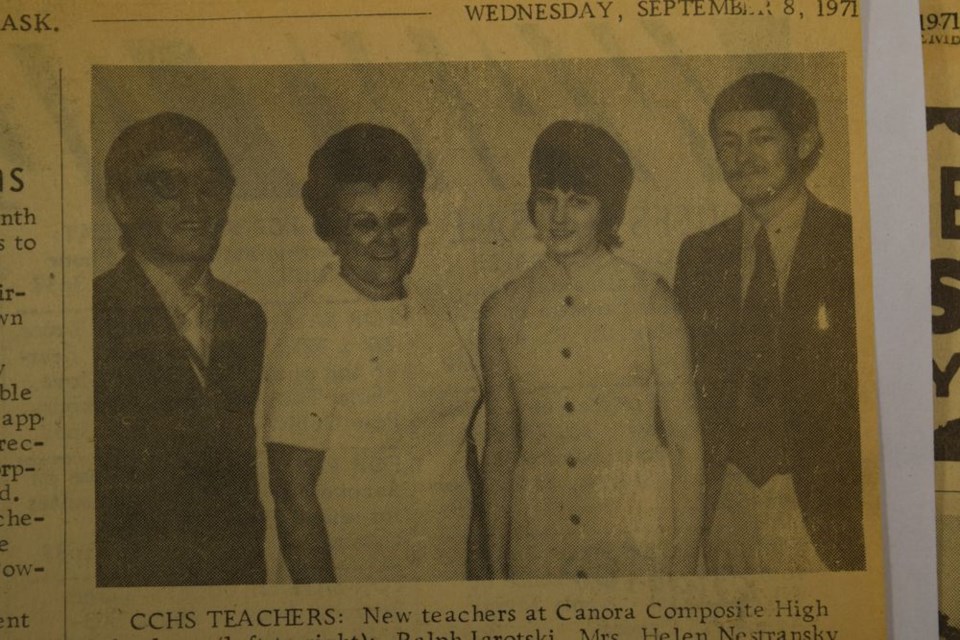
[[[711,138],[716,138],[721,116],[733,111],[772,111],[780,126],[794,139],[813,131],[816,145],[803,159],[802,168],[809,173],[816,166],[823,147],[817,101],[796,82],[763,72],[747,74],[728,85],[717,94],[710,109]]]

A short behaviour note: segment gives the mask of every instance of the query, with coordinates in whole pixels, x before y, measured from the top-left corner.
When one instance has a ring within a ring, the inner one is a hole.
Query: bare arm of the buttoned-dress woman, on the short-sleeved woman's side
[[[481,469],[492,577],[506,578],[513,472],[520,452],[516,399],[503,350],[503,321],[491,297],[480,311],[480,365],[487,404],[486,447]]]

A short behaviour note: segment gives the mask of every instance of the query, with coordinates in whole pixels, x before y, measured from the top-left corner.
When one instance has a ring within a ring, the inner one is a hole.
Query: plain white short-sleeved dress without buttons
[[[477,373],[439,298],[374,302],[332,269],[268,360],[265,439],[324,451],[338,582],[462,580]]]

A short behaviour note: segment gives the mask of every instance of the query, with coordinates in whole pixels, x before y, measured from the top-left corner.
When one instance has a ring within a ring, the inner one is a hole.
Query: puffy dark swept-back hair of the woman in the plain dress
[[[303,206],[320,239],[331,242],[343,230],[337,207],[339,187],[392,180],[410,190],[414,222],[423,227],[427,224],[426,173],[420,156],[402,134],[376,124],[355,124],[327,138],[310,158],[301,190]]]

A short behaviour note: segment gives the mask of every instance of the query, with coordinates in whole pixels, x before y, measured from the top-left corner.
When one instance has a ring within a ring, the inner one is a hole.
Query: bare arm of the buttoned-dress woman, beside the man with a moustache
[[[696,571],[703,520],[703,450],[686,326],[666,284],[651,296],[657,399],[673,476],[673,575]]]

